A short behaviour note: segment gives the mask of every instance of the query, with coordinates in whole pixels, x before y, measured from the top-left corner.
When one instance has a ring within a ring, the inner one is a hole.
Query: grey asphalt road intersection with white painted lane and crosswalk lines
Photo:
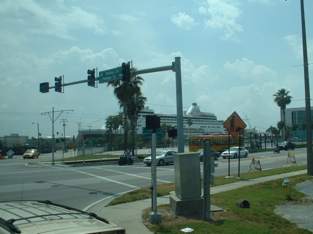
[[[230,174],[246,173],[250,168],[252,156],[260,159],[262,170],[281,168],[286,166],[288,152],[295,155],[297,165],[307,163],[305,148],[282,151],[280,154],[250,154],[247,158],[240,159],[240,170],[238,159],[230,159],[228,164],[228,159],[221,157],[217,160],[219,166],[214,175],[227,176],[228,166]],[[116,155],[120,153],[117,152]],[[59,158],[62,158],[62,153],[57,152],[55,159]],[[174,165],[158,166],[157,183],[169,182],[175,182]],[[150,185],[151,167],[144,163],[134,163],[131,166],[109,164],[73,167],[56,162],[51,165],[51,154],[41,155],[38,159],[22,159],[22,156],[0,159],[0,201],[47,199],[86,209],[101,200]]]

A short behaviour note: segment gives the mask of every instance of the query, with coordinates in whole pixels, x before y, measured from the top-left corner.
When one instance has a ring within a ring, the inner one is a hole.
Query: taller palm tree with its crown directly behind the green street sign
[[[131,69],[135,71],[135,68]],[[136,113],[136,104],[134,101],[139,100],[142,97],[140,86],[143,83],[143,78],[139,76],[132,77],[130,81],[112,80],[109,81],[107,86],[114,88],[114,96],[118,99],[120,109],[124,111],[124,148],[128,148],[128,117],[130,114]],[[139,110],[140,111],[140,110]]]

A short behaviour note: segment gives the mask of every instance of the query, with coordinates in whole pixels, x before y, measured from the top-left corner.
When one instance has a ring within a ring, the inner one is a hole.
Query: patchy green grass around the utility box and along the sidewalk
[[[305,170],[307,166],[294,166],[274,170],[242,173],[240,179],[237,175],[225,178],[215,176],[215,184],[212,186],[253,179],[256,177],[271,176],[292,171]],[[181,234],[180,229],[192,228],[194,234],[312,234],[308,230],[300,229],[296,224],[274,213],[277,205],[302,204],[309,205],[312,201],[306,195],[297,191],[295,186],[306,180],[312,180],[307,174],[289,177],[291,181],[291,200],[287,200],[282,189],[282,179],[272,180],[239,189],[211,195],[211,205],[216,205],[224,212],[212,212],[209,221],[203,221],[202,215],[178,216],[174,215],[170,205],[158,206],[158,212],[162,215],[162,223],[151,224],[148,222],[151,208],[144,211],[142,217],[144,224],[155,234]],[[168,195],[175,190],[175,184],[157,185],[158,196]],[[115,198],[109,205],[131,202],[138,199],[151,197],[149,187],[141,188],[133,192]],[[239,208],[237,201],[247,199],[249,209]]]

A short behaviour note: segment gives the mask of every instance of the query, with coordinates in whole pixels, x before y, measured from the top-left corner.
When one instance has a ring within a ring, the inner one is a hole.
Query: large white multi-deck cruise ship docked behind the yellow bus
[[[177,126],[177,115],[167,115],[167,114],[158,114],[154,110],[150,109],[149,106],[139,113],[137,120],[137,134],[142,134],[142,129],[146,126],[145,116],[154,115],[160,117],[161,125],[167,124],[173,127]],[[193,124],[188,125],[187,120],[191,118]],[[188,110],[183,111],[183,126],[184,126],[184,135],[201,135],[204,133],[213,134],[213,133],[227,133],[225,129],[224,120],[218,120],[213,113],[201,112],[200,106],[197,103],[192,103],[192,106]]]

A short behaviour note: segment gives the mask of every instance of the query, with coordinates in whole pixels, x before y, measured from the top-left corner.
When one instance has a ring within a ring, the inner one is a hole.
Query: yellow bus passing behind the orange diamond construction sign
[[[219,152],[223,152],[228,147],[239,146],[239,137],[241,137],[241,145],[244,144],[244,137],[237,136],[236,138],[228,137],[228,134],[204,134],[204,135],[195,135],[190,136],[189,141],[189,152],[197,152],[200,149],[203,149],[203,139],[211,139],[211,149]],[[229,139],[229,143],[228,143]]]

